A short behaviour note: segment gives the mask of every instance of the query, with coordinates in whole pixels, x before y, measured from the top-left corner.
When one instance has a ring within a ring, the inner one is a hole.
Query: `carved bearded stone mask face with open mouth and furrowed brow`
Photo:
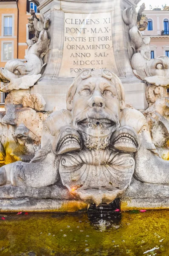
[[[103,77],[89,77],[73,98],[73,125],[93,137],[104,137],[119,126],[120,102],[115,85]]]

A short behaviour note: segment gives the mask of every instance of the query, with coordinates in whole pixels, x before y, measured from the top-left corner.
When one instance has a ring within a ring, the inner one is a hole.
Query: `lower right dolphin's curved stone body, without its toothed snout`
[[[152,143],[144,115],[135,109],[124,109],[121,125],[129,125],[138,133],[140,148],[135,153],[134,176],[147,183],[169,183],[169,161],[161,159]]]

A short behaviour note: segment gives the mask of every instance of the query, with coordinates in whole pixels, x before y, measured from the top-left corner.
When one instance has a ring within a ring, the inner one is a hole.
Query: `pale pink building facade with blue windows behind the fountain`
[[[148,18],[147,29],[142,33],[149,36],[151,58],[161,55],[169,57],[169,8],[144,11]]]

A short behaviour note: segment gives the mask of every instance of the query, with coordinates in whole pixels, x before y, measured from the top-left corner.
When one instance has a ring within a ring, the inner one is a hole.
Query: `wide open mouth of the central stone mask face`
[[[86,128],[110,128],[111,126],[115,125],[110,119],[93,119],[93,118],[86,118],[80,122],[78,122],[79,126],[83,126]]]

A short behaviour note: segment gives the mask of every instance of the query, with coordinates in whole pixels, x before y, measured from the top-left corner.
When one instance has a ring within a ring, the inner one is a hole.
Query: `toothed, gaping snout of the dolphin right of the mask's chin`
[[[137,132],[127,125],[118,128],[111,137],[110,147],[117,151],[131,153],[138,151],[140,143]]]

